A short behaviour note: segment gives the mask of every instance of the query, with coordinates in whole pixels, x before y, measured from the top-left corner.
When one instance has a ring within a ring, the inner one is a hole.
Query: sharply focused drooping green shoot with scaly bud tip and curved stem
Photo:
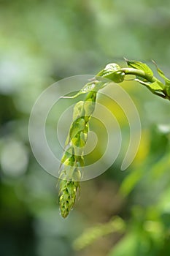
[[[59,205],[61,216],[66,218],[74,207],[77,191],[80,192],[80,181],[82,178],[81,167],[85,165],[83,148],[88,140],[89,122],[95,110],[98,91],[109,83],[121,83],[127,75],[134,75],[134,80],[146,86],[153,94],[170,100],[170,80],[166,78],[163,71],[155,64],[158,75],[163,78],[164,83],[155,78],[152,70],[147,64],[140,61],[129,61],[125,59],[128,67],[121,68],[115,63],[107,64],[98,74],[90,80],[76,95],[87,94],[84,101],[77,102],[74,106],[72,124],[66,139],[65,150],[61,159]],[[107,79],[100,79],[107,78]]]

